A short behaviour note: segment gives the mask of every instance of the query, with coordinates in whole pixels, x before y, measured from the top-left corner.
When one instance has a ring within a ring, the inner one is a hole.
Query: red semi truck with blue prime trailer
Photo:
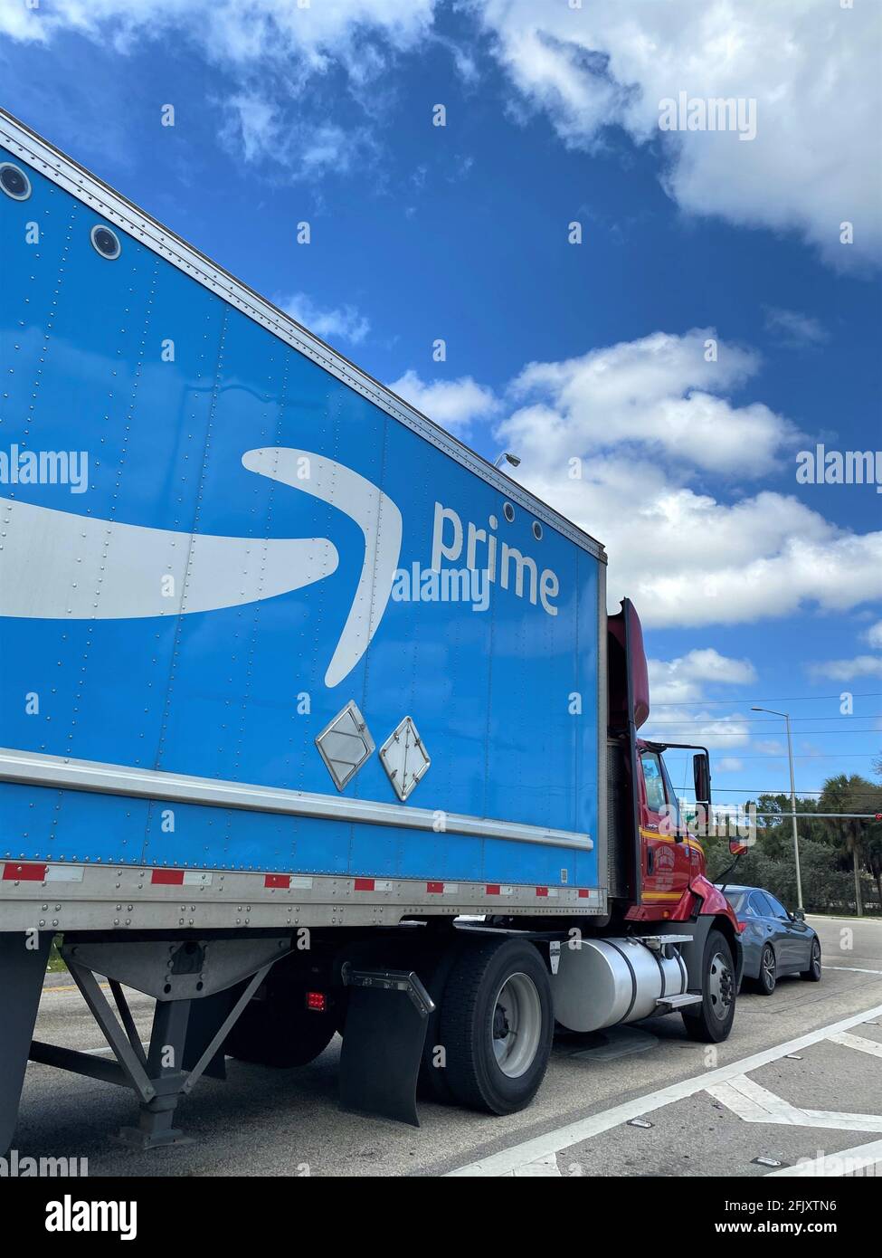
[[[411,1123],[525,1107],[560,1028],[723,1040],[604,547],[6,113],[0,263],[0,1149],[28,1062],[151,1149],[337,1034]],[[53,942],[109,1054],[34,1038]]]

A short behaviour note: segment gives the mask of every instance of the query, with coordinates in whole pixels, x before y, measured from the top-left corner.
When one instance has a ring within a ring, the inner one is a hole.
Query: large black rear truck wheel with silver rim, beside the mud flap
[[[489,1113],[515,1113],[539,1091],[551,1053],[549,971],[523,940],[467,947],[444,989],[440,1043],[453,1098]]]

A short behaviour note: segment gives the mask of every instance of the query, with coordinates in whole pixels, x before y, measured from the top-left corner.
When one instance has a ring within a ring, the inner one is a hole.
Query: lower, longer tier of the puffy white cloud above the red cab
[[[629,594],[647,624],[747,624],[882,599],[882,532],[848,532],[790,494],[725,503],[669,483],[648,460],[584,465],[580,482],[535,459],[518,470],[606,545],[610,606]]]

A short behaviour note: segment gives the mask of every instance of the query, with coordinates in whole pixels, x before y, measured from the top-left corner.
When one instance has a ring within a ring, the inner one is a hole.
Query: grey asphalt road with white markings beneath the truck
[[[228,1062],[226,1083],[180,1105],[193,1142],[147,1154],[112,1140],[135,1121],[132,1094],[31,1063],[14,1145],[87,1157],[91,1176],[882,1175],[882,922],[810,921],[820,984],[742,993],[716,1048],[676,1015],[561,1038],[539,1097],[510,1117],[421,1102],[415,1130],[342,1113],[335,1039],[297,1071]],[[152,1003],[132,1004],[146,1029]],[[44,990],[36,1037],[102,1050],[64,982]]]

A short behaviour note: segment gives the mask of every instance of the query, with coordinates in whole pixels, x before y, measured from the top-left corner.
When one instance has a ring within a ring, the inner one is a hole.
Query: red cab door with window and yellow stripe
[[[689,844],[677,843],[677,800],[657,751],[640,752],[640,839],[644,905],[673,908],[689,884]]]

